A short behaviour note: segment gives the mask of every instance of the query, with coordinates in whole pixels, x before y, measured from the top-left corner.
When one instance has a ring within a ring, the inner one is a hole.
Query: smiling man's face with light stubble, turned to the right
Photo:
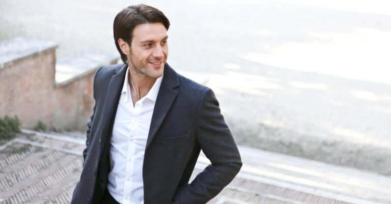
[[[156,79],[162,76],[169,53],[167,38],[167,31],[162,23],[136,25],[130,46],[119,39],[121,50],[127,56],[129,69],[133,69],[142,78]]]

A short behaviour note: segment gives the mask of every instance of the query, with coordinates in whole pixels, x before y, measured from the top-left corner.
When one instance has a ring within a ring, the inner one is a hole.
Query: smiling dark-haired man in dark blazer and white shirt
[[[213,92],[168,64],[170,22],[150,6],[114,20],[122,65],[100,68],[71,203],[206,203],[242,163]],[[188,184],[203,150],[211,161]]]

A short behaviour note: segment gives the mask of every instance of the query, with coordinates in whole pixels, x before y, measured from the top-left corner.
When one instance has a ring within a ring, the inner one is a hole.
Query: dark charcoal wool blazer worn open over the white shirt
[[[126,70],[124,64],[110,65],[95,74],[95,106],[73,204],[100,203],[107,186],[109,142]],[[201,149],[211,165],[188,184]],[[241,165],[214,93],[165,64],[144,155],[144,203],[206,203],[233,180]]]

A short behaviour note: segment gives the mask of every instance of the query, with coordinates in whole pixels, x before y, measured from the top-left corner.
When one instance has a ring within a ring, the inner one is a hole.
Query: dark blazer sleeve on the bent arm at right
[[[238,148],[211,89],[203,93],[199,105],[197,142],[211,164],[191,184],[177,189],[174,204],[208,202],[234,179],[242,166]]]

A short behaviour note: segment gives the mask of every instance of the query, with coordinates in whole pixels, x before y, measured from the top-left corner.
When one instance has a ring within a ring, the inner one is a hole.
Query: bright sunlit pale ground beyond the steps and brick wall
[[[208,76],[239,144],[391,175],[385,1],[145,3],[171,20],[169,63]],[[58,63],[111,56],[128,4],[0,0],[0,39],[57,41]]]

